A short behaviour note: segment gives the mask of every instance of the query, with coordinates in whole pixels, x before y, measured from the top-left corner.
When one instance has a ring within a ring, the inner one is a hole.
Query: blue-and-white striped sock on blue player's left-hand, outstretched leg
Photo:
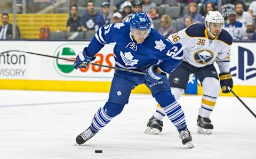
[[[92,132],[98,132],[100,129],[105,127],[110,121],[111,117],[107,114],[103,107],[100,107],[97,113],[95,113],[92,123],[91,123],[91,130]]]

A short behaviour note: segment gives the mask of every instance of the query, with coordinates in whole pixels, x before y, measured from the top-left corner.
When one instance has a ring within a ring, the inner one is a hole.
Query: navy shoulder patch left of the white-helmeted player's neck
[[[195,23],[188,26],[185,32],[190,37],[205,37],[204,29],[204,24]]]

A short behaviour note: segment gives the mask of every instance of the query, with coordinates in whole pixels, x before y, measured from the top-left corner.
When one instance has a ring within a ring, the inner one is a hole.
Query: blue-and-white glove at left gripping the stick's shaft
[[[75,69],[87,68],[89,62],[95,60],[96,57],[89,57],[86,55],[86,49],[87,47],[85,47],[84,50],[76,56],[76,61],[73,64]]]

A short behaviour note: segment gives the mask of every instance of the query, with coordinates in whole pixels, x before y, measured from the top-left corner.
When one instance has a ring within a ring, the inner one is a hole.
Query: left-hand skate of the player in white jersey
[[[157,134],[162,131],[163,121],[158,120],[154,115],[149,119],[147,123],[147,129],[144,131],[148,134]]]

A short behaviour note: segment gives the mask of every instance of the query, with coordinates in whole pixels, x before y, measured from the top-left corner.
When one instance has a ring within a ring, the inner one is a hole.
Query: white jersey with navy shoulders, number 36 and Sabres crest
[[[209,39],[204,24],[196,23],[170,35],[167,40],[172,44],[182,44],[183,61],[198,68],[216,61],[221,73],[229,72],[230,47],[233,39],[226,30],[222,29],[219,37]]]

